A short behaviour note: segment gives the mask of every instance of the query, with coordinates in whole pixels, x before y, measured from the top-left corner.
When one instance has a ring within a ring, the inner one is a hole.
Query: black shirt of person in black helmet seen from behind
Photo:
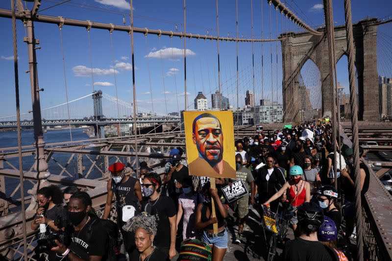
[[[284,261],[339,261],[336,252],[319,241],[309,241],[300,237],[286,243]]]

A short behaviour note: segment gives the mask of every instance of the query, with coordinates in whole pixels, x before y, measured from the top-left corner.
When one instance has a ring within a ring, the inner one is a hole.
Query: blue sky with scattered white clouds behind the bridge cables
[[[59,2],[58,0],[42,0],[41,9]],[[324,24],[322,1],[288,0],[291,9],[310,25]],[[175,31],[183,30],[183,1],[134,0],[134,26]],[[392,15],[392,1],[389,0],[353,0],[353,21],[366,17],[385,17]],[[275,10],[271,9],[267,1],[253,1],[254,37],[261,37],[261,8],[263,7],[263,38],[276,38],[286,30],[297,30],[278,14],[275,23]],[[334,0],[334,21],[344,24],[343,1]],[[0,8],[10,9],[9,1],[1,1]],[[128,0],[72,0],[66,4],[42,11],[42,15],[62,16],[79,20],[90,20],[101,23],[123,24],[123,14],[130,11]],[[235,0],[219,2],[219,31],[221,36],[235,36]],[[199,0],[187,1],[187,32],[193,34],[217,34],[216,2]],[[251,37],[250,0],[239,0],[239,36]],[[126,24],[130,24],[129,16],[125,16]],[[276,26],[277,25],[277,26]],[[277,27],[277,28],[276,28]],[[276,30],[277,29],[277,30]],[[31,93],[26,56],[25,36],[21,21],[17,21],[18,55],[21,89],[21,111],[31,109]],[[64,73],[60,49],[60,35],[55,24],[35,23],[36,38],[40,40],[40,50],[37,50],[38,73],[42,108],[60,104],[66,101],[64,88]],[[15,87],[13,72],[13,47],[11,19],[0,18],[0,77],[2,79],[0,96],[1,116],[15,114]],[[95,90],[116,96],[115,78],[119,99],[132,101],[132,78],[130,43],[126,32],[113,33],[114,63],[112,63],[112,49],[110,34],[107,30],[92,29],[91,51],[94,68]],[[151,109],[151,95],[154,110],[160,113],[177,111],[184,108],[184,64],[182,58],[183,40],[170,39],[155,35],[135,34],[135,74],[138,106]],[[63,43],[66,62],[66,79],[69,99],[88,95],[93,91],[90,73],[90,56],[85,28],[64,26]],[[263,47],[264,64],[261,63],[261,48]],[[173,48],[173,56],[172,49]],[[190,108],[197,92],[203,91],[209,104],[211,93],[217,89],[218,65],[217,43],[196,39],[187,40],[187,86]],[[161,50],[161,51],[160,51]],[[277,50],[277,51],[276,51]],[[221,85],[222,93],[229,97],[230,103],[236,107],[236,45],[230,42],[220,42],[221,57]],[[255,90],[256,100],[272,98],[281,101],[281,47],[279,43],[254,44],[255,53]],[[271,63],[272,53],[272,63]],[[161,59],[162,54],[162,59]],[[278,62],[276,63],[276,55]],[[244,105],[246,90],[253,89],[252,82],[252,44],[239,44],[240,65],[240,104]],[[148,58],[149,57],[149,58]],[[148,70],[149,68],[149,70]],[[338,63],[338,81],[348,87],[347,62],[344,57]],[[390,69],[389,67],[387,68]],[[383,69],[384,71],[387,69]],[[388,71],[387,70],[387,71]],[[312,72],[312,69],[309,69]],[[263,75],[262,75],[263,72]],[[151,77],[151,85],[149,83]],[[390,75],[392,76],[392,75]],[[308,77],[308,76],[307,76]],[[309,82],[314,81],[309,76]],[[177,87],[177,91],[175,90]],[[165,95],[165,92],[166,95]],[[273,94],[273,95],[271,95]],[[315,94],[316,95],[316,94]],[[166,97],[165,97],[166,96]],[[316,98],[315,98],[316,99]],[[177,105],[178,100],[178,105]],[[89,103],[90,104],[90,103]],[[86,115],[87,116],[87,115]]]

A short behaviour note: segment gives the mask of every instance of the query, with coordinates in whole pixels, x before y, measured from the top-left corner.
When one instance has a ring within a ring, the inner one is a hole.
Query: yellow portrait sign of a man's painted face
[[[186,111],[184,125],[189,174],[235,178],[233,113]]]

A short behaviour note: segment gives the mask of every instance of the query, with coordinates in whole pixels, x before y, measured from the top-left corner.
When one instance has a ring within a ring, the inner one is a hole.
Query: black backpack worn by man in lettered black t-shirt
[[[106,261],[117,261],[120,254],[120,247],[122,240],[120,239],[119,228],[116,223],[109,219],[101,219],[99,217],[93,218],[87,229],[87,242],[93,234],[93,227],[95,224],[101,224],[105,228],[108,236],[108,247],[106,252]],[[105,260],[105,259],[102,259]]]

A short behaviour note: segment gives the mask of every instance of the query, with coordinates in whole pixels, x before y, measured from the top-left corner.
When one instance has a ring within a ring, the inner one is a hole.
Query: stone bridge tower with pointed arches
[[[376,18],[353,24],[355,65],[358,73],[359,119],[380,120],[377,72]],[[283,109],[284,121],[299,121],[298,76],[302,66],[311,59],[319,68],[322,92],[322,116],[332,115],[328,42],[325,28],[321,36],[309,33],[282,34]],[[335,58],[347,52],[345,26],[336,26]]]

